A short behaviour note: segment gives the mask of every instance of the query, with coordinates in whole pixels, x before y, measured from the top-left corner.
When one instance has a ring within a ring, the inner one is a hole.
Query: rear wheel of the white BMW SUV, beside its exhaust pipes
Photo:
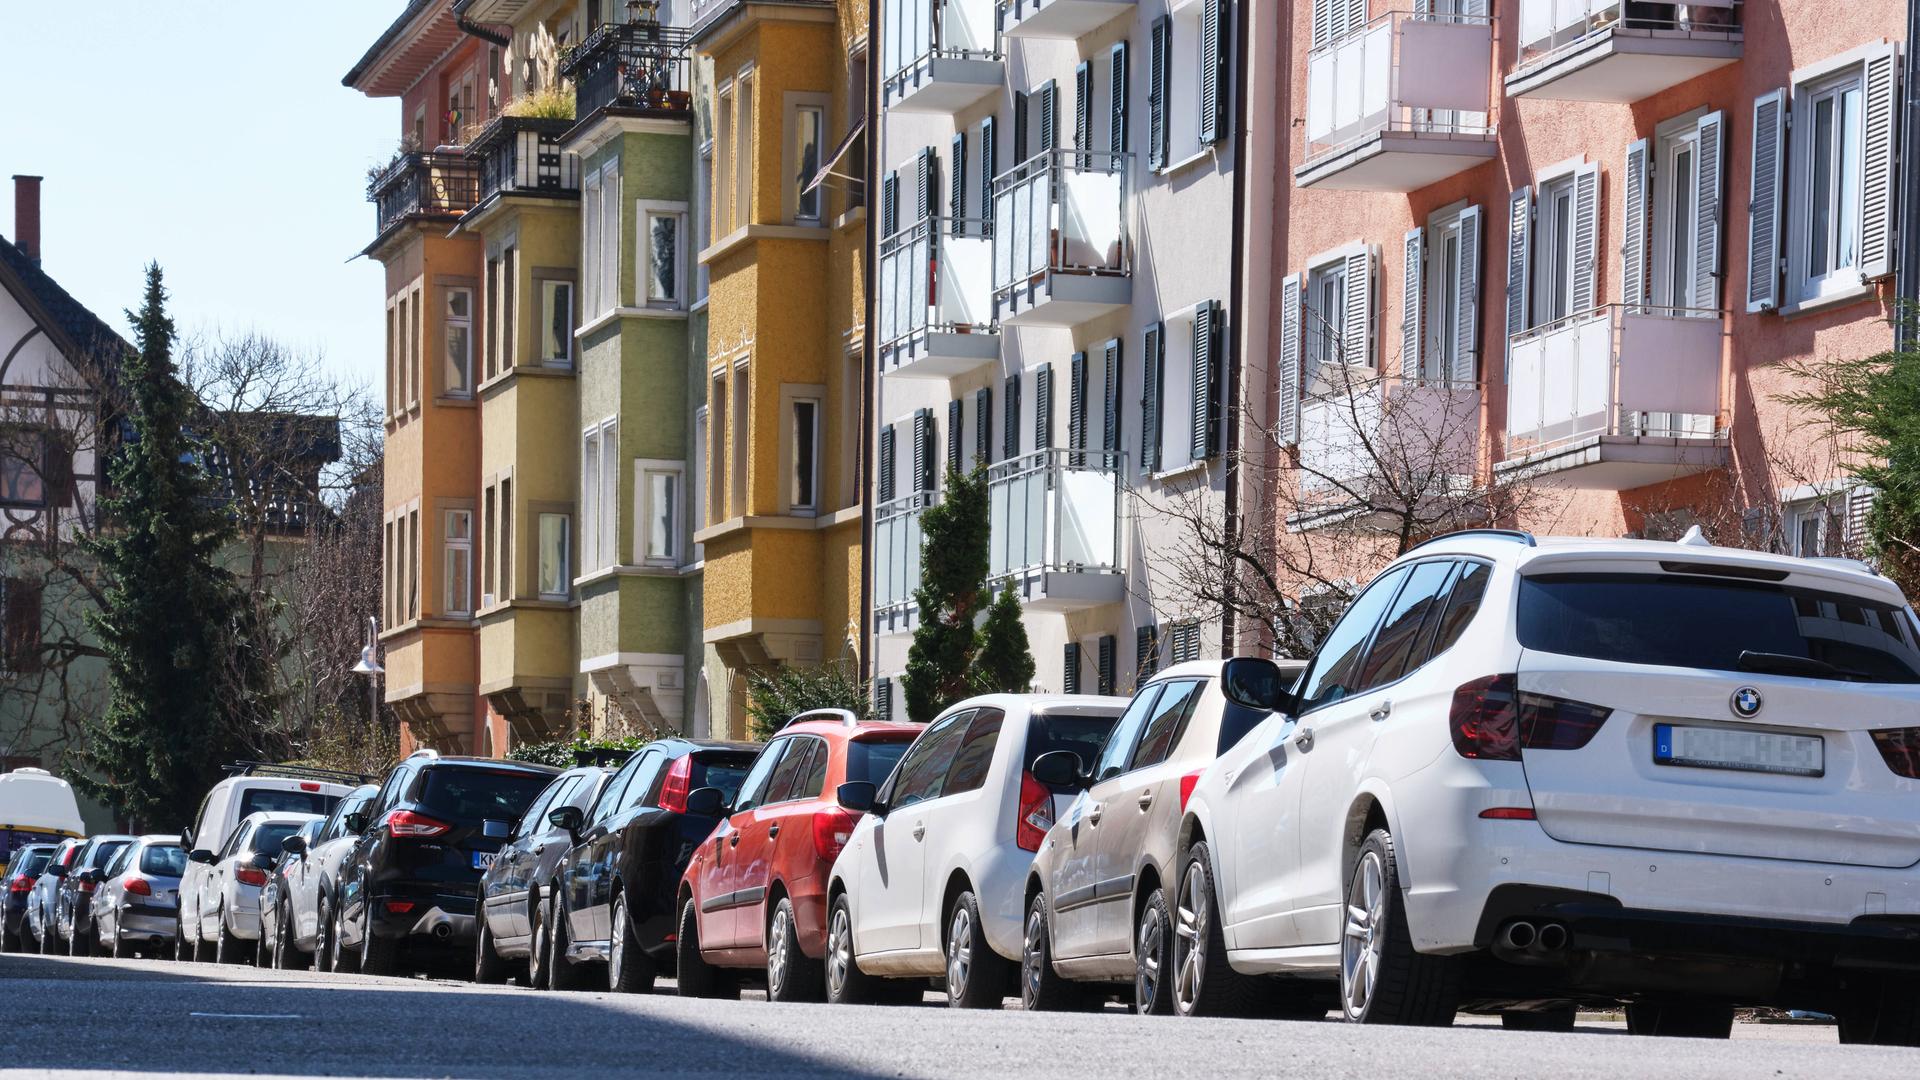
[[[1375,828],[1340,894],[1352,915],[1340,932],[1340,1011],[1356,1024],[1446,1028],[1459,1011],[1459,963],[1413,949],[1400,892],[1394,834]]]

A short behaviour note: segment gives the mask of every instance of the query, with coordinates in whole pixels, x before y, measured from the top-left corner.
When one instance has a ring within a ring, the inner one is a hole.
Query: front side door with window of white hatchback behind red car
[[[860,853],[854,944],[862,953],[920,947],[922,892],[925,888],[925,811],[920,803],[947,782],[973,709],[941,717],[914,740],[881,788],[883,809]]]

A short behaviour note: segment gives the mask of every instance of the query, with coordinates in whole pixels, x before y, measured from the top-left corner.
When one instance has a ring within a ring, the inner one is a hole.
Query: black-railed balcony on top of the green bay
[[[578,138],[607,115],[693,119],[687,31],[655,21],[607,23],[561,60],[574,81]]]

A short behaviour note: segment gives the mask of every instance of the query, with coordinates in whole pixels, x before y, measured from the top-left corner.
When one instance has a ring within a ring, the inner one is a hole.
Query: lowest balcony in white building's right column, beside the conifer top
[[[1012,584],[1033,611],[1119,603],[1127,455],[1037,450],[987,471],[993,588]]]

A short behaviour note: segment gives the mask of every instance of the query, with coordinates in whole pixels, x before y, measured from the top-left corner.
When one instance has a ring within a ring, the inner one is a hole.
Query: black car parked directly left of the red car
[[[758,751],[751,742],[662,738],[607,782],[591,811],[547,811],[572,846],[534,911],[536,986],[543,974],[553,990],[578,990],[588,965],[607,965],[601,978],[634,992],[672,970],[680,876],[720,822],[689,813],[687,796],[718,788],[720,803],[732,803]]]

